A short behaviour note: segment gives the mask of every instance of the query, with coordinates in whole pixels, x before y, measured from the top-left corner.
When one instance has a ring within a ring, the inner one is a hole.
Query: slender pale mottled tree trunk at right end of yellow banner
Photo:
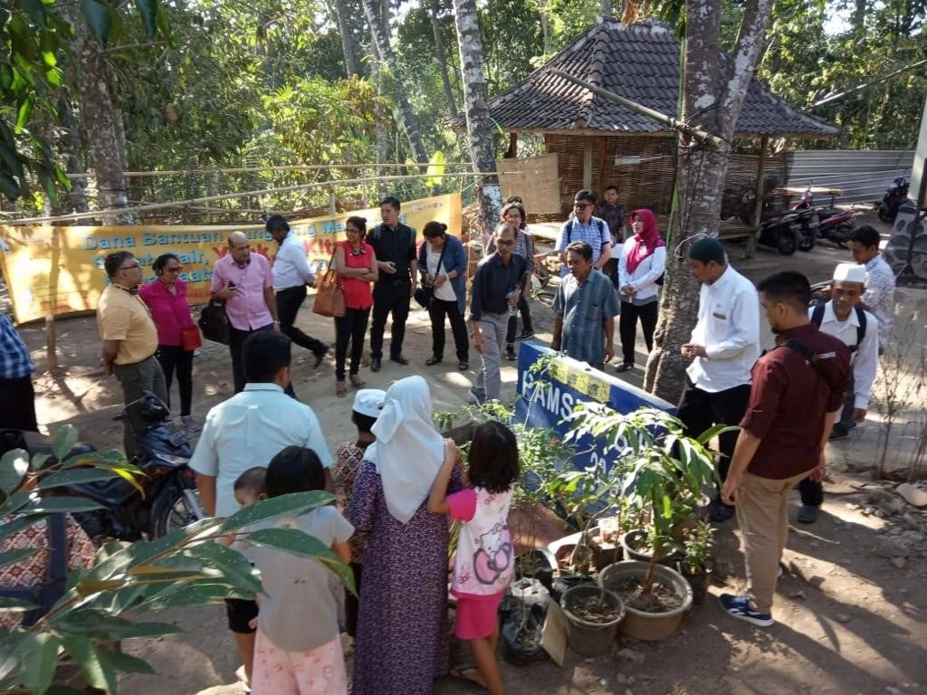
[[[470,136],[470,158],[474,171],[493,173],[476,181],[479,191],[479,219],[483,233],[489,234],[499,221],[502,193],[495,175],[496,158],[492,143],[492,120],[489,118],[489,95],[483,74],[483,47],[479,35],[476,0],[454,0],[454,23],[460,46],[461,72],[464,75],[464,109]]]

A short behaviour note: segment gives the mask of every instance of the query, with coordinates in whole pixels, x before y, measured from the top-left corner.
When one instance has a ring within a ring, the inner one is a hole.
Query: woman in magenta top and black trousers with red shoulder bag
[[[148,305],[158,328],[158,352],[155,356],[164,371],[169,398],[173,373],[177,371],[181,423],[188,432],[199,432],[190,406],[193,401],[193,353],[202,345],[202,338],[190,315],[190,305],[186,303],[186,283],[180,279],[184,266],[175,254],[165,253],[155,259],[151,267],[157,280],[143,284],[138,296]]]

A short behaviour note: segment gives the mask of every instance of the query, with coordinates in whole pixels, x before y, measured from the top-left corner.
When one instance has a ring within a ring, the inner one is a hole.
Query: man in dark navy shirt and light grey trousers
[[[470,325],[473,346],[483,356],[483,368],[476,374],[470,398],[477,403],[499,398],[502,386],[500,366],[510,312],[518,305],[520,281],[527,260],[513,253],[518,229],[500,224],[494,236],[496,251],[476,267],[470,296]]]

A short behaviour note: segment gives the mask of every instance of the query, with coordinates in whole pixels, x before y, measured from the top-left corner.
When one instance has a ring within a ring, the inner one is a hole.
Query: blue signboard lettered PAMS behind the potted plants
[[[550,427],[565,436],[569,426],[565,418],[574,406],[582,401],[595,401],[609,408],[628,413],[639,408],[658,408],[661,411],[676,412],[671,403],[663,398],[642,391],[634,385],[593,369],[586,362],[560,356],[554,358],[542,373],[530,372],[542,355],[556,354],[550,347],[543,347],[533,341],[523,341],[518,353],[518,398],[515,401],[515,419],[534,427]],[[537,388],[540,381],[549,386]],[[615,458],[614,452],[606,455],[591,436],[583,436],[576,442],[577,455],[574,463],[584,468],[592,463]]]

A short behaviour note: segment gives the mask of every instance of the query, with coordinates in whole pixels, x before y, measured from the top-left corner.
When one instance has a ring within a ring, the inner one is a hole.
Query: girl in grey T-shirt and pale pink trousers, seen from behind
[[[265,486],[268,498],[324,490],[325,469],[311,449],[287,447],[267,467]],[[342,561],[350,560],[348,540],[354,527],[332,505],[272,523],[298,528],[318,538]],[[263,584],[251,677],[255,695],[347,693],[338,628],[341,588],[334,576],[322,562],[283,550],[252,546],[247,554],[260,570]]]

